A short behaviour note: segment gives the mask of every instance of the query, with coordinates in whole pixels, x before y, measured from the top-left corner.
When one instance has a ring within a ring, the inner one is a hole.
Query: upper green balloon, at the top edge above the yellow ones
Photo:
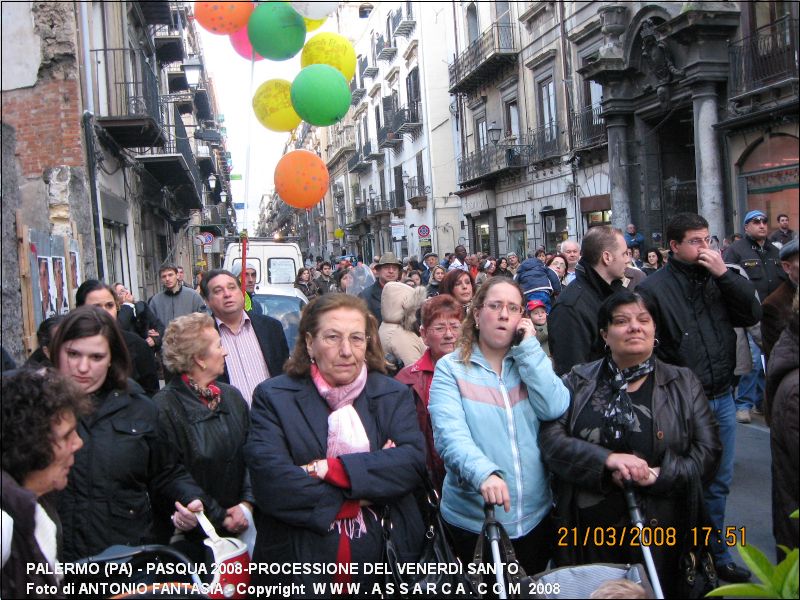
[[[288,60],[303,48],[306,24],[285,2],[262,2],[250,15],[247,37],[264,58]]]

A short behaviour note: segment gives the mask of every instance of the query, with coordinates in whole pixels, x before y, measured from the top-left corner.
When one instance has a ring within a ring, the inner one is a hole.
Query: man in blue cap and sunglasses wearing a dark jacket
[[[786,279],[778,249],[767,240],[767,215],[751,210],[744,216],[744,238],[725,249],[728,264],[741,266],[753,282],[762,302]]]

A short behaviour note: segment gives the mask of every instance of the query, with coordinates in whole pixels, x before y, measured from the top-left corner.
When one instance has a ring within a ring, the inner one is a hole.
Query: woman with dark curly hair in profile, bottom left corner
[[[50,574],[61,560],[61,540],[60,521],[47,495],[67,485],[74,455],[83,446],[78,418],[90,407],[81,391],[52,369],[26,367],[3,373],[3,598],[30,596],[30,584],[58,590],[47,597],[64,597],[60,578]],[[31,571],[31,564],[49,565],[49,573]]]

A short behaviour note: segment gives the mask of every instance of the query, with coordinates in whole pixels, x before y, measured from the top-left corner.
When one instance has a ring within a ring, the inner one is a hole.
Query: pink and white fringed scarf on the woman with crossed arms
[[[328,403],[331,414],[328,415],[328,448],[325,456],[327,458],[338,458],[343,454],[355,454],[356,452],[369,452],[369,438],[361,417],[358,416],[353,402],[356,401],[367,385],[367,365],[361,367],[358,377],[347,385],[332,387],[322,373],[319,372],[317,365],[311,365],[311,380],[319,392],[319,395]],[[330,529],[336,528],[341,535],[344,533],[348,538],[358,539],[367,530],[364,517],[361,511],[354,519],[337,519],[331,523]]]

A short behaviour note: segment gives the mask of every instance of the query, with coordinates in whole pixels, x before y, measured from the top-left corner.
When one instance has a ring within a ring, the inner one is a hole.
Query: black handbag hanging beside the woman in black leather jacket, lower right
[[[702,598],[719,584],[711,550],[707,545],[701,543],[699,538],[702,536],[693,535],[691,531],[692,528],[697,528],[695,531],[698,531],[711,523],[703,500],[700,474],[697,473],[696,465],[692,464],[691,470],[687,494],[689,521],[678,559],[676,593],[679,598]]]

